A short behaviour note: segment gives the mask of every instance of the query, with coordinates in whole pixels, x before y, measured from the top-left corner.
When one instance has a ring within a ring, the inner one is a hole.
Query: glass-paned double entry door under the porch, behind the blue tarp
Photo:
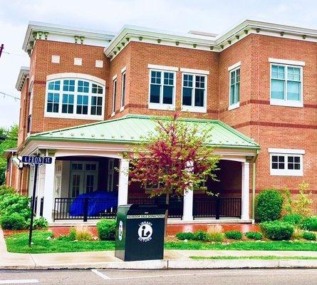
[[[77,197],[83,193],[97,190],[98,162],[74,161],[71,162],[70,197]]]

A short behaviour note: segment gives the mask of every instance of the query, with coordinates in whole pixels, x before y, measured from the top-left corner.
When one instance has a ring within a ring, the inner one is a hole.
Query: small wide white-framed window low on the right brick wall
[[[270,153],[271,175],[303,176],[303,150],[284,150],[289,153],[274,151]]]

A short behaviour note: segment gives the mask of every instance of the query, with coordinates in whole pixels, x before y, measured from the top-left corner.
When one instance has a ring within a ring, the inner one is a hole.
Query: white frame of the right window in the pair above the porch
[[[183,68],[184,70],[185,68]],[[183,99],[183,89],[184,89],[184,76],[193,76],[192,81],[192,105],[187,106],[182,103],[182,111],[184,112],[194,112],[194,113],[207,113],[207,86],[208,86],[208,78],[206,73],[190,73],[183,72],[182,73],[182,99]],[[204,77],[204,106],[199,107],[194,105],[194,90],[196,88],[196,76]],[[181,100],[182,100],[181,99]]]

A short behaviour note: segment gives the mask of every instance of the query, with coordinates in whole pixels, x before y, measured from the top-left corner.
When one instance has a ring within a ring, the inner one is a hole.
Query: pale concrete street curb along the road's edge
[[[146,260],[146,261],[109,261],[73,264],[36,264],[35,266],[0,266],[0,269],[317,269],[317,260]]]

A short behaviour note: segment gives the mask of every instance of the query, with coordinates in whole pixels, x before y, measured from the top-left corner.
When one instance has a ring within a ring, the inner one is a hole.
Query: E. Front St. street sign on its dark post
[[[33,218],[34,218],[34,207],[35,207],[35,196],[36,196],[36,180],[38,177],[38,166],[44,164],[51,164],[52,157],[45,156],[33,156],[27,155],[22,157],[22,162],[28,165],[34,166],[34,178],[33,178],[33,194],[32,194],[32,204],[31,204],[31,221],[30,221],[30,230],[28,234],[28,247],[31,247],[32,243],[32,232],[33,232]]]

